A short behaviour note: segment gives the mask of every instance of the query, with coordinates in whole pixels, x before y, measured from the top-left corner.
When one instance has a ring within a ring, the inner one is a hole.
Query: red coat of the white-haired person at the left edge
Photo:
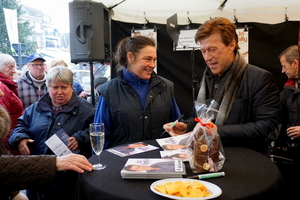
[[[17,90],[17,83],[4,76],[0,72],[0,89],[4,93],[4,97],[0,97],[0,104],[7,110],[11,119],[11,130],[18,124],[17,119],[23,115],[23,105],[18,97],[18,90]],[[10,137],[10,134],[4,139],[6,146],[8,147],[7,141]],[[10,149],[9,151],[12,154],[19,154],[17,152],[12,152]]]

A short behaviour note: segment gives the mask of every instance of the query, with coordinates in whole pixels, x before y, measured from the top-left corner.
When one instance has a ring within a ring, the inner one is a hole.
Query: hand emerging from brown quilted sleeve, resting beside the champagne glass
[[[65,171],[73,170],[83,173],[84,170],[92,171],[92,164],[82,155],[68,154],[66,156],[56,157],[56,170]]]

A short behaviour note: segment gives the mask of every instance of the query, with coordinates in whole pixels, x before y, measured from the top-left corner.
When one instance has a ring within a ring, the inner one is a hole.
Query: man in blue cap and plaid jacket
[[[27,57],[28,71],[17,81],[18,96],[24,109],[47,93],[45,61],[39,53],[33,53]]]

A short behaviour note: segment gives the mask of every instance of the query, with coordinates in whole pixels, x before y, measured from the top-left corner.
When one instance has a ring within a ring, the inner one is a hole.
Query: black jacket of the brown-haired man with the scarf
[[[218,126],[222,144],[267,154],[269,142],[278,137],[281,125],[279,94],[270,72],[248,64],[228,118]],[[193,118],[186,122],[190,130],[196,124]]]

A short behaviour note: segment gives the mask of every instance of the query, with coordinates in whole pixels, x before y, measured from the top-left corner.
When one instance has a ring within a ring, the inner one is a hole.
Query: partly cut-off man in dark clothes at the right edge
[[[299,85],[299,52],[298,46],[293,45],[279,55],[282,73],[288,80],[280,94],[282,105],[282,128],[277,144],[287,142],[294,163],[300,167],[300,85]]]

